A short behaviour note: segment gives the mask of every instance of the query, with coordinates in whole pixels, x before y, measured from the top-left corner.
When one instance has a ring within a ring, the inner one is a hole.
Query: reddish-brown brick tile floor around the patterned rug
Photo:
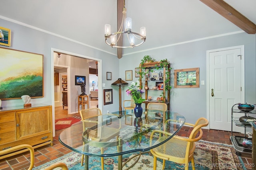
[[[73,115],[79,115],[78,113]],[[65,116],[72,116],[72,115],[65,115]],[[192,128],[190,127],[182,127],[178,135],[187,137]],[[203,130],[203,137],[202,140],[210,141],[210,142],[217,142],[217,143],[225,143],[231,145],[230,136],[231,132],[228,131],[218,131],[218,130],[211,130],[211,129],[202,129]],[[40,147],[35,149],[35,164],[34,166],[40,166],[59,158],[69,152],[71,150],[64,147],[58,141],[58,135],[62,130],[56,131],[56,137],[54,137],[54,145],[51,147],[50,145]],[[233,133],[233,135],[243,136],[240,133]],[[241,155],[242,160],[244,163],[252,163],[252,156],[251,154],[242,153]],[[16,156],[12,156],[9,158],[4,158],[0,160],[0,170],[26,170],[29,167],[30,154],[29,152],[25,152],[23,154],[18,154]],[[252,169],[251,167],[247,168],[248,170]]]

